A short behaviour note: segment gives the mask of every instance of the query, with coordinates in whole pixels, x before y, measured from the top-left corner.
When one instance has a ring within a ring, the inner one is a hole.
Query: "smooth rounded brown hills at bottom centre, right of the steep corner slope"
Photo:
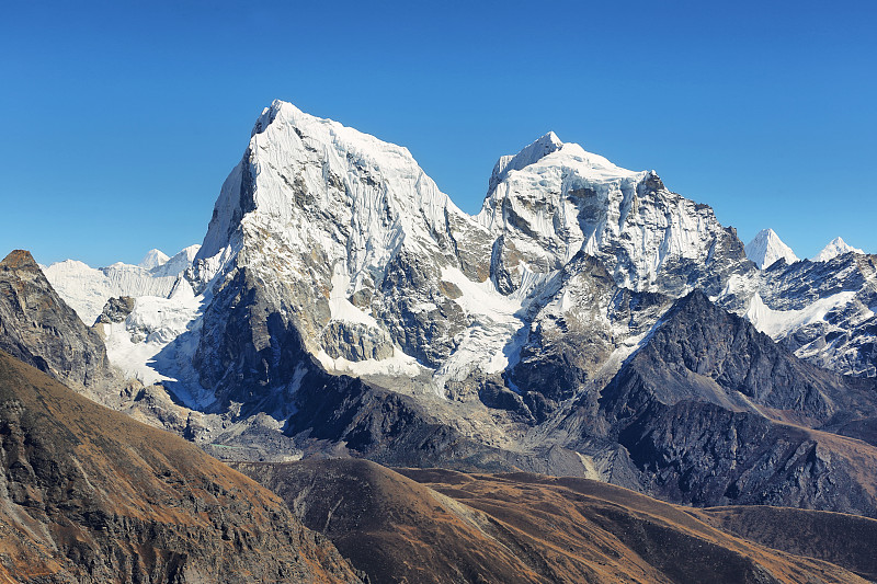
[[[584,479],[394,471],[364,460],[238,468],[376,583],[859,581]]]

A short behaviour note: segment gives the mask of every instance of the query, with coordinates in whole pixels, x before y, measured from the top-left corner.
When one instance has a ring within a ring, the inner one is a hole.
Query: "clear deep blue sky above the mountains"
[[[182,5],[178,5],[182,4]],[[877,2],[8,2],[0,255],[201,242],[275,98],[407,146],[465,210],[554,129],[748,241],[877,253]]]

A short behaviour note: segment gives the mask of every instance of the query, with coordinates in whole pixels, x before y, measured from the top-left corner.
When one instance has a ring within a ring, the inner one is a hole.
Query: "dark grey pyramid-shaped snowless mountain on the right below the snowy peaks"
[[[867,430],[872,382],[797,359],[699,291],[664,319],[600,398],[646,492],[877,516],[877,449],[818,430]]]

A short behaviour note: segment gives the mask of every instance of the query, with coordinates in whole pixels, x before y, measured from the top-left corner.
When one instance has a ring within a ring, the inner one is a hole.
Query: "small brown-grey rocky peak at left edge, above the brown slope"
[[[0,350],[79,390],[110,378],[100,335],[55,293],[30,252],[0,262]]]

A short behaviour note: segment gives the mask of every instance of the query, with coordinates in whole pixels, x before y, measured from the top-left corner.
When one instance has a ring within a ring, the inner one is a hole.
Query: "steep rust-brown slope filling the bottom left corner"
[[[0,534],[0,579],[360,581],[252,481],[2,352]]]

